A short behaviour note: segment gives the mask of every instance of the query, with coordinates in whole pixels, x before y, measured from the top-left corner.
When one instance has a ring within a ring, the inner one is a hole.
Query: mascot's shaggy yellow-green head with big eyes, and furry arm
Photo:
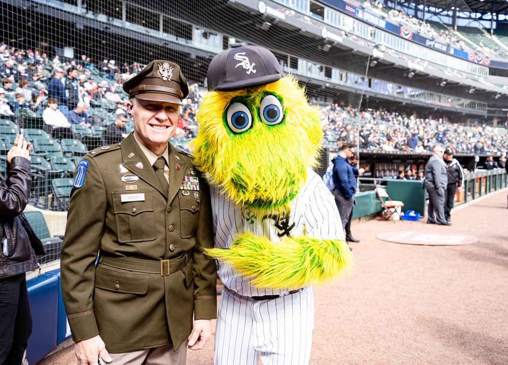
[[[195,163],[237,206],[284,217],[316,166],[322,127],[292,76],[239,90],[208,92],[201,104]],[[336,209],[336,207],[334,206]],[[339,221],[340,224],[340,221]],[[230,249],[206,254],[260,288],[301,288],[347,272],[343,240],[288,236],[279,242],[239,232]]]

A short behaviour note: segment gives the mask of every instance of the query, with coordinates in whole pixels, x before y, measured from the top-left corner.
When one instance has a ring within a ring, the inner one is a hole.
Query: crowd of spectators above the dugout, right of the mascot
[[[337,104],[321,109],[325,139],[332,143],[338,138],[348,143],[359,142],[361,149],[386,152],[431,153],[436,144],[449,146],[457,154],[502,155],[508,151],[506,135],[498,134],[501,131],[491,126],[467,127],[443,119],[386,110],[358,111]]]

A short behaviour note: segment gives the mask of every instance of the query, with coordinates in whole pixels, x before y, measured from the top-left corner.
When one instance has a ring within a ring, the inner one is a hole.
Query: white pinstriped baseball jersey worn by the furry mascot
[[[307,171],[307,181],[298,196],[291,201],[291,212],[287,225],[275,227],[275,217],[270,212],[256,216],[248,207],[238,206],[220,194],[220,190],[210,185],[212,202],[215,247],[230,248],[234,237],[242,231],[265,236],[273,242],[280,242],[284,232],[297,237],[303,234],[320,240],[344,239],[342,224],[335,199],[319,175],[311,169]],[[282,222],[284,223],[284,222]],[[294,224],[294,227],[291,228]],[[235,270],[224,264],[218,265],[218,276],[224,285],[244,296],[263,296],[285,294],[298,288],[272,290],[252,286],[250,280],[242,278]]]

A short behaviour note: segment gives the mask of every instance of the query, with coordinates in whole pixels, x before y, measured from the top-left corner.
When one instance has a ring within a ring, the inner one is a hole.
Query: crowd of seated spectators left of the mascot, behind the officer
[[[6,44],[0,44],[0,61],[0,117],[16,120],[17,111],[35,113],[55,138],[77,137],[72,132],[73,124],[109,127],[103,138],[107,142],[118,142],[128,134],[128,96],[122,85],[143,65],[125,62],[117,66],[115,60],[107,58],[96,65],[86,55],[64,62],[58,55],[50,59],[37,50],[25,51]],[[176,136],[195,136],[196,112],[204,92],[198,84],[189,86]]]

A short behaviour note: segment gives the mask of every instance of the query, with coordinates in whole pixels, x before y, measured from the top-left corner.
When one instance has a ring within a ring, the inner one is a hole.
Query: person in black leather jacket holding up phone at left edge
[[[0,364],[21,363],[32,329],[25,272],[39,264],[18,218],[30,187],[30,143],[18,134],[0,175]]]

